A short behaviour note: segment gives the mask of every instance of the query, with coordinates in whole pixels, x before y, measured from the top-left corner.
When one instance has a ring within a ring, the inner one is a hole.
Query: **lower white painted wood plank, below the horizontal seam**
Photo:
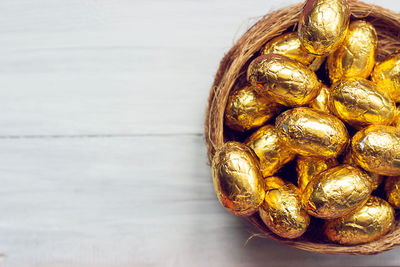
[[[394,266],[252,239],[198,136],[0,139],[1,266]]]

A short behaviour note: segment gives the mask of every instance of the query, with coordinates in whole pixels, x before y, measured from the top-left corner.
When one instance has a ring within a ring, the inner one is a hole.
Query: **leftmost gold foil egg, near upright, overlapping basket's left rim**
[[[212,161],[214,189],[231,213],[250,216],[264,201],[264,181],[257,156],[247,146],[227,142]]]

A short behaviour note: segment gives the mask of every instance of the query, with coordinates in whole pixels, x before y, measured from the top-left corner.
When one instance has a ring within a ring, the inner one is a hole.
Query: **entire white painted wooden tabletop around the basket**
[[[0,266],[400,264],[400,249],[244,246],[252,228],[214,195],[203,120],[218,62],[295,2],[1,0]]]

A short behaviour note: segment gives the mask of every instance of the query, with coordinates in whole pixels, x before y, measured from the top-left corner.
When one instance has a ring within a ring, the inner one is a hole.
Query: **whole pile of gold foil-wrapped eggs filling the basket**
[[[212,161],[227,210],[258,213],[283,238],[303,235],[310,216],[343,245],[390,230],[400,208],[400,53],[376,63],[377,46],[373,25],[350,21],[346,0],[308,0],[298,32],[265,44],[225,109],[225,125],[247,138]],[[278,177],[289,162],[295,177]]]

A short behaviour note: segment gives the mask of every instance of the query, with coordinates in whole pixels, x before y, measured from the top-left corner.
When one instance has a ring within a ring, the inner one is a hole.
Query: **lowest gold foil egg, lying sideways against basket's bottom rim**
[[[384,201],[370,196],[362,207],[335,220],[326,221],[325,235],[342,245],[371,242],[385,235],[394,223],[394,210]]]

